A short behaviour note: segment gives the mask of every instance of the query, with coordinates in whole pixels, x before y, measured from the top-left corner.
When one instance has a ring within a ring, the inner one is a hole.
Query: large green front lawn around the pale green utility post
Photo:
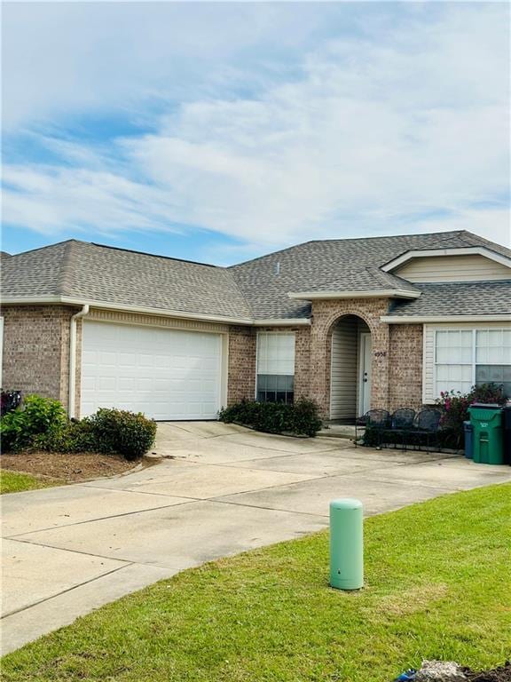
[[[185,571],[4,658],[3,679],[389,682],[511,654],[511,486],[368,519],[366,588],[327,585],[325,532]],[[122,579],[122,578],[120,578]]]

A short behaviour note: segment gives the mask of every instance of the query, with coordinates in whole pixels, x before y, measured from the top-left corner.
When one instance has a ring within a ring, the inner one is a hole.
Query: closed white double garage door
[[[222,337],[83,321],[82,416],[98,408],[153,419],[216,419]]]

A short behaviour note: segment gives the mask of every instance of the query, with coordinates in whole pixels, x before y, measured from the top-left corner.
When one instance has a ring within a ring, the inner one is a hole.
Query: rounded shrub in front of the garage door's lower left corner
[[[98,452],[117,452],[129,460],[145,455],[156,437],[156,422],[141,412],[100,408],[82,421],[90,426]]]

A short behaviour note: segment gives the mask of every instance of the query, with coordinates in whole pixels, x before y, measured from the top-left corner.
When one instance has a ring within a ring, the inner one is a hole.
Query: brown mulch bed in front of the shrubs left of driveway
[[[137,466],[118,455],[100,455],[95,452],[77,452],[73,455],[61,452],[3,453],[0,467],[12,472],[31,473],[37,477],[73,483],[79,480],[97,479],[129,472]]]

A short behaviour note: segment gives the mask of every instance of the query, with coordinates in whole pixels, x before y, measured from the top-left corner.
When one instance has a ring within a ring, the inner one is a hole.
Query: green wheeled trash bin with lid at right
[[[499,405],[475,403],[468,408],[474,426],[474,462],[504,464],[504,430]]]

